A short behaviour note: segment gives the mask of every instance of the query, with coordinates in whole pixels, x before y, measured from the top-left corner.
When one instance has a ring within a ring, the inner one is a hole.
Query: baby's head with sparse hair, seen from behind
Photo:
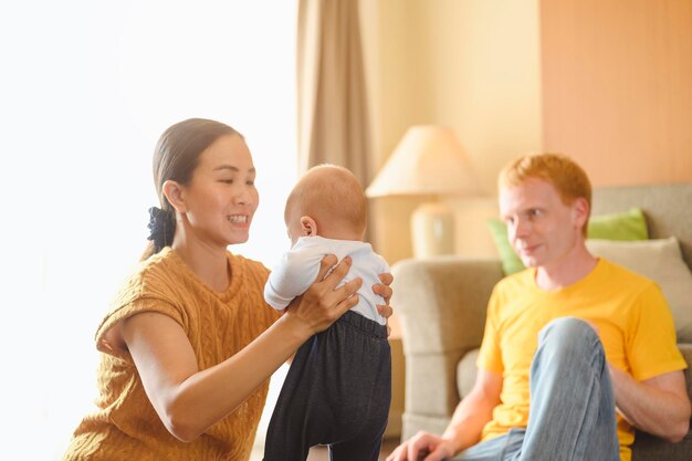
[[[300,237],[363,240],[366,199],[353,172],[335,165],[307,170],[286,200],[284,220],[291,244]]]

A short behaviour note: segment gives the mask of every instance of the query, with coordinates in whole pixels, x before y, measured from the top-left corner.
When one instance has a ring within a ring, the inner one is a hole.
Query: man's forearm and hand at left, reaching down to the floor
[[[502,375],[479,369],[473,389],[459,404],[442,437],[418,432],[387,457],[387,461],[441,461],[475,444],[500,404]]]

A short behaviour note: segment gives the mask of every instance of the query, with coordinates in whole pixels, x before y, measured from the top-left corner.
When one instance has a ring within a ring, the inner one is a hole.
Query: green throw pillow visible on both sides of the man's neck
[[[491,219],[487,227],[493,235],[495,247],[502,261],[502,270],[505,275],[513,274],[524,269],[522,260],[516,255],[507,239],[507,228],[500,219]],[[631,208],[629,211],[593,216],[589,219],[586,232],[589,239],[602,240],[647,240],[649,231],[647,220],[640,208]]]

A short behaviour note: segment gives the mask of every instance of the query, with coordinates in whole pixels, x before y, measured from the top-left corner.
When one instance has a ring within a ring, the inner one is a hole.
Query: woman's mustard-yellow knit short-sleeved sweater
[[[231,284],[224,293],[205,285],[170,249],[144,261],[127,280],[96,332],[102,352],[98,410],[74,432],[64,461],[229,460],[250,458],[266,398],[264,383],[231,415],[191,443],[171,436],[147,398],[132,356],[107,340],[116,323],[144,311],[170,316],[185,329],[200,369],[250,344],[277,314],[264,303],[269,271],[229,253]]]

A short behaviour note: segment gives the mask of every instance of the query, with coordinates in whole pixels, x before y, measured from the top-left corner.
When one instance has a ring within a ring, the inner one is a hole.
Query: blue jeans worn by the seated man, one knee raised
[[[528,426],[473,446],[454,460],[618,461],[615,415],[598,335],[578,318],[557,318],[538,334]]]

